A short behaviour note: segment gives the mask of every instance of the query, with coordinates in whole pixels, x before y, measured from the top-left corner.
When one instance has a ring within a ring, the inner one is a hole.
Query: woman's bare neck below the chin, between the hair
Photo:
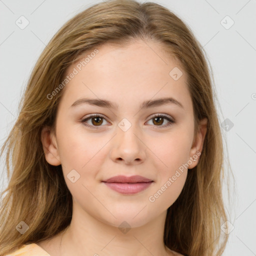
[[[113,226],[84,211],[81,216],[74,209],[70,225],[61,237],[61,256],[171,255],[163,243],[166,211],[142,226],[129,228],[126,222]]]

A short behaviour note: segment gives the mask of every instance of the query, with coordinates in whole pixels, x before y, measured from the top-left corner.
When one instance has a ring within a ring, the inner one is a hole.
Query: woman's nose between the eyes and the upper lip
[[[117,134],[112,139],[110,157],[115,162],[124,164],[140,164],[146,157],[146,145],[142,135],[135,129],[135,125],[123,131],[116,128]]]

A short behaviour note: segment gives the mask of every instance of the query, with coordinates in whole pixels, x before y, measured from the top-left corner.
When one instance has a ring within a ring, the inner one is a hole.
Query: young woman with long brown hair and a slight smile
[[[0,255],[221,255],[214,99],[200,44],[167,8],[111,0],[75,15],[2,148]]]

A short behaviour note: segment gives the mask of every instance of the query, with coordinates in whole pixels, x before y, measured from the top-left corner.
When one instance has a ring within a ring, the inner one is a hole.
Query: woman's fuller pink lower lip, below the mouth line
[[[150,186],[151,182],[137,182],[137,183],[107,183],[104,182],[109,188],[122,193],[122,194],[135,194]]]

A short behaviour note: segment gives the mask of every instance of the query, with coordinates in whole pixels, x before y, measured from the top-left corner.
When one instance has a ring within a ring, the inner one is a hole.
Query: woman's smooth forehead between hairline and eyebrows
[[[172,96],[184,106],[191,104],[186,73],[162,44],[140,40],[120,47],[106,43],[96,49],[97,53],[87,51],[66,70],[66,75],[74,69],[76,74],[65,86],[63,100],[98,97],[122,105]]]

